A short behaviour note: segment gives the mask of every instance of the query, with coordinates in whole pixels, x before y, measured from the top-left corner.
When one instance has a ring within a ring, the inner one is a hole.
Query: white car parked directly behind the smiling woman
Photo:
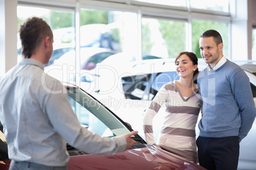
[[[162,85],[180,78],[176,73],[174,58],[136,62],[119,61],[118,63],[112,62],[113,65],[111,62],[108,62],[108,65],[104,65],[104,62],[99,63],[95,70],[90,70],[92,71],[90,76],[87,72],[83,74],[85,76],[80,77],[80,80],[95,79],[95,81],[91,81],[93,82],[91,84],[88,81],[80,82],[77,85],[86,91],[90,89],[90,94],[124,121],[129,122],[132,128],[138,130],[139,135],[145,138],[142,122],[145,110]],[[201,65],[200,68],[203,68],[205,63]],[[155,131],[159,131],[161,127],[159,122],[163,122],[162,119],[164,119],[164,108],[153,120]]]

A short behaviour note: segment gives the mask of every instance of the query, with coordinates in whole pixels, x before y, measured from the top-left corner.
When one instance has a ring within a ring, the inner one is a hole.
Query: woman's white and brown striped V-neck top
[[[164,122],[157,142],[153,136],[153,117],[166,107]],[[197,161],[196,123],[201,108],[201,96],[196,86],[192,96],[185,98],[175,82],[164,84],[146,111],[143,127],[146,142],[157,144],[176,155]]]

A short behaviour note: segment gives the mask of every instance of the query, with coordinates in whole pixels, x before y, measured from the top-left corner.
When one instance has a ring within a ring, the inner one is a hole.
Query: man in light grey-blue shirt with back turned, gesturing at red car
[[[89,154],[115,154],[136,143],[131,136],[137,131],[102,138],[80,126],[66,89],[43,71],[53,52],[52,30],[44,20],[29,18],[20,27],[20,40],[22,60],[0,82],[10,169],[67,169],[66,142]]]

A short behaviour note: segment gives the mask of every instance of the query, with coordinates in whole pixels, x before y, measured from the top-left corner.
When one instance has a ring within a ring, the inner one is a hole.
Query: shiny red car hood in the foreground
[[[150,146],[115,155],[78,155],[70,157],[68,169],[204,169],[160,148]]]

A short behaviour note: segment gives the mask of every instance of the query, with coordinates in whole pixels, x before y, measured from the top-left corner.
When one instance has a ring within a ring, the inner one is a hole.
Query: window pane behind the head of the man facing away
[[[50,10],[48,8],[37,8],[31,6],[17,6],[18,29],[20,25],[32,16],[43,18],[53,30],[53,50],[60,48],[74,48],[75,42],[75,13],[73,11]],[[21,54],[21,44],[18,36],[18,55]],[[65,50],[65,49],[64,49]],[[57,55],[59,55],[59,52]],[[19,59],[19,58],[18,58]]]

